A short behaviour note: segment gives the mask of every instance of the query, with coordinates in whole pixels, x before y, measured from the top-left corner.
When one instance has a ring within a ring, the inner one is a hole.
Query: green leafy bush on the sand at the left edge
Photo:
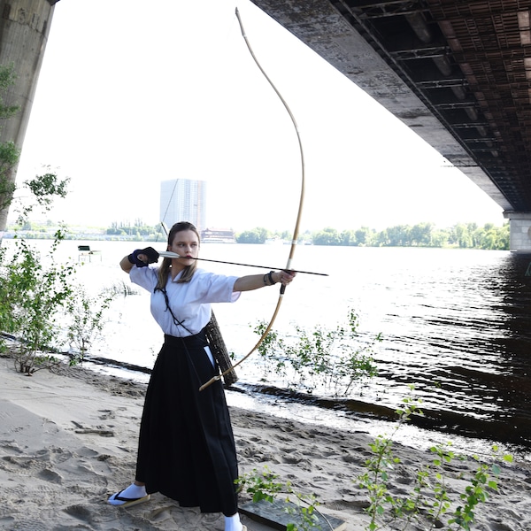
[[[50,352],[65,342],[73,349],[70,364],[81,362],[102,332],[104,312],[118,293],[119,288],[112,288],[89,296],[74,281],[76,266],[55,258],[64,237],[61,230],[56,233],[44,259],[24,239],[16,239],[9,259],[6,249],[0,249],[0,332],[17,340],[12,357],[20,373],[58,365]],[[0,350],[6,350],[4,337]]]

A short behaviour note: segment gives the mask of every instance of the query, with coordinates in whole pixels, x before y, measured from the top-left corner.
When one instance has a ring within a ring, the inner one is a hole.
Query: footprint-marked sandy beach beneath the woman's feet
[[[0,358],[0,528],[223,531],[222,515],[183,509],[159,494],[130,508],[106,503],[133,479],[144,390],[81,367],[28,377]],[[353,480],[365,472],[372,438],[234,407],[231,415],[240,473],[268,466],[296,492],[317,496],[319,510],[344,521],[344,529],[366,529],[366,493]],[[403,445],[394,453],[401,459],[390,487],[396,495],[409,490],[414,471],[431,456]],[[471,460],[452,461],[450,491],[463,489],[461,474],[473,469]],[[473,528],[531,529],[531,464],[515,456],[498,484]],[[242,521],[249,531],[273,528],[248,515]]]

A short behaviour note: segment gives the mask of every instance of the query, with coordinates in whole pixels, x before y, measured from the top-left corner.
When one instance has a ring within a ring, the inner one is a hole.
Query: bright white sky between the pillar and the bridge
[[[207,225],[301,231],[502,225],[443,156],[250,2],[60,0],[18,182],[50,168],[69,225],[160,219],[160,181],[207,181]],[[171,224],[173,220],[165,220]]]

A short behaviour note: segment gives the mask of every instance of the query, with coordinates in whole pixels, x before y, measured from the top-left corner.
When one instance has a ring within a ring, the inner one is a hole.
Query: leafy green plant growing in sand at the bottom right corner
[[[413,391],[413,386],[410,389]],[[404,407],[396,410],[398,420],[393,433],[390,436],[378,435],[374,443],[370,444],[373,455],[366,460],[366,473],[357,479],[359,486],[366,489],[369,500],[366,512],[370,515],[371,522],[366,529],[405,530],[415,522],[422,529],[470,531],[479,504],[485,503],[489,493],[497,490],[495,477],[500,473],[498,448],[493,447],[490,464],[482,463],[474,455],[472,458],[477,462],[477,467],[473,475],[467,478],[465,473],[456,475],[449,470],[454,459],[466,460],[465,456],[457,456],[450,450],[451,443],[433,446],[430,452],[435,457],[431,464],[416,471],[409,496],[395,496],[389,490],[390,475],[397,474],[400,459],[393,455],[393,436],[412,415],[423,414],[419,409],[420,399],[410,395],[404,398],[403,403]],[[511,462],[512,456],[504,455],[501,459]],[[465,486],[462,492],[456,489],[458,482]],[[446,523],[443,522],[443,517]]]

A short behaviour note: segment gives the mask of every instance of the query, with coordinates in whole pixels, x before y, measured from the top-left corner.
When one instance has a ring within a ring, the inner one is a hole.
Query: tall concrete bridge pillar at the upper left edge
[[[20,108],[15,116],[0,122],[0,142],[14,142],[19,150],[22,150],[24,143],[57,2],[58,0],[0,0],[0,64],[13,64],[17,74],[15,84],[4,96],[4,104],[18,105]],[[8,179],[15,181],[16,168]],[[0,235],[4,232],[8,212],[9,207],[0,209]]]

